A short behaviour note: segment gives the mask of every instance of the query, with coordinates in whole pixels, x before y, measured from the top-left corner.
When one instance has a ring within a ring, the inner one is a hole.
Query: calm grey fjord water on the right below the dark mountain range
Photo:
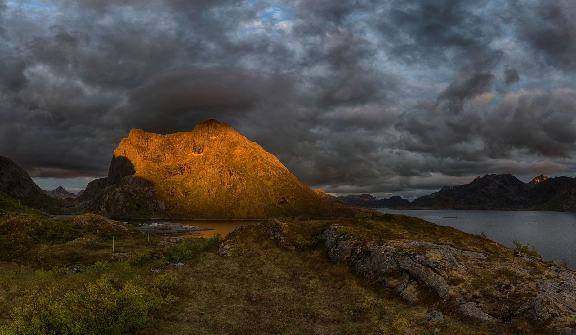
[[[544,260],[567,260],[576,268],[576,212],[472,211],[472,210],[388,210],[381,213],[416,216],[471,234],[485,231],[488,238],[514,247],[514,239],[529,243]]]

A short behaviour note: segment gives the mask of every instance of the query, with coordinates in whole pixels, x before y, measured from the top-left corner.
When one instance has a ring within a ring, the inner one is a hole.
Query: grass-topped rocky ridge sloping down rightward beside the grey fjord
[[[502,324],[495,328],[527,320],[545,333],[576,332],[574,271],[476,235],[407,218],[385,215],[361,224],[319,224],[312,235],[304,236],[299,223],[276,222],[260,229],[291,251],[320,243],[330,260],[347,264],[357,275],[410,303],[435,296],[444,313]],[[414,234],[414,229],[403,227],[407,220],[419,226],[418,233],[426,229],[431,234]],[[236,240],[244,230],[229,234],[219,254],[237,256]],[[434,235],[438,241],[433,241]]]

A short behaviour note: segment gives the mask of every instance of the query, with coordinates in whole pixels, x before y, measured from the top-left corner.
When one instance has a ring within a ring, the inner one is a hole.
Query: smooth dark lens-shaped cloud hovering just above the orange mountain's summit
[[[293,96],[286,75],[231,67],[178,67],[154,75],[131,90],[128,102],[113,113],[126,130],[187,130],[206,119],[237,120],[249,111],[278,108]]]

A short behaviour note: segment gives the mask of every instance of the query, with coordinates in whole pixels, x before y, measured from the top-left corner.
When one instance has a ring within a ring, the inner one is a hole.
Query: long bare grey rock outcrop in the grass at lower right
[[[491,322],[516,317],[538,322],[554,319],[554,322],[565,325],[576,321],[576,273],[555,263],[516,253],[516,260],[499,266],[504,269],[522,264],[536,269],[528,271],[517,267],[509,270],[525,275],[522,279],[522,292],[517,292],[515,296],[524,295],[528,298],[514,301],[511,295],[516,292],[516,287],[505,284],[490,290],[490,296],[483,299],[477,294],[463,295],[458,283],[464,278],[479,276],[478,273],[470,273],[467,264],[475,268],[495,265],[484,253],[424,241],[390,240],[383,244],[362,242],[347,237],[341,231],[341,227],[334,224],[321,235],[329,258],[334,262],[346,262],[358,275],[380,281],[403,297],[408,290],[408,299],[405,297],[408,301],[417,300],[410,298],[414,296],[410,290],[415,287],[414,281],[418,281],[433,289],[445,303],[456,304],[457,311],[468,317]],[[521,276],[514,274],[513,277]],[[467,302],[467,298],[476,301]],[[488,307],[488,299],[509,302],[494,311]],[[483,305],[488,310],[484,310]]]

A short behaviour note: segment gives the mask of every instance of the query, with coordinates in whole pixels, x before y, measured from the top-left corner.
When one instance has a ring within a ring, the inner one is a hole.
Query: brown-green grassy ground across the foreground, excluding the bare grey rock
[[[2,335],[544,334],[549,326],[464,317],[425,287],[419,288],[418,302],[406,302],[380,281],[328,259],[319,234],[334,222],[286,223],[293,251],[277,246],[269,232],[272,223],[246,226],[229,242],[233,255],[222,257],[219,237],[170,241],[92,214],[38,215],[0,221],[5,229],[0,243],[13,248],[6,238],[12,235],[31,241],[21,245],[17,257],[5,255],[0,262]],[[17,223],[28,230],[22,232]],[[364,216],[338,224],[343,234],[362,241],[419,239],[483,252],[494,264],[515,261],[513,250],[497,243],[408,216]],[[62,238],[64,230],[71,233]],[[54,237],[48,231],[60,233]],[[167,262],[185,265],[177,269]],[[70,265],[81,265],[82,271],[75,273]],[[458,294],[490,296],[493,284],[506,281],[519,287],[512,298],[530,296],[515,273],[466,266],[467,276],[455,279]],[[535,265],[530,271],[541,269]],[[445,322],[421,323],[431,310],[442,311]]]

